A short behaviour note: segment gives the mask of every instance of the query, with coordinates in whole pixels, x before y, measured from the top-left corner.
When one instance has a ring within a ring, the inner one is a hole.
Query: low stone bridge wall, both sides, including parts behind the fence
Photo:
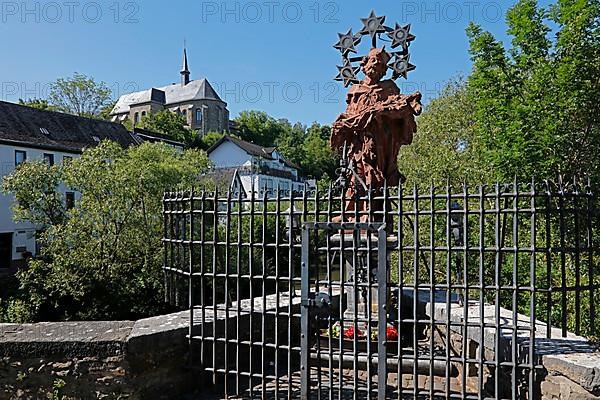
[[[248,340],[252,332],[255,338],[264,335],[269,343],[273,343],[273,337],[278,336],[282,345],[285,344],[287,332],[299,332],[299,326],[288,326],[286,318],[276,323],[270,311],[287,309],[290,302],[293,313],[299,312],[299,296],[266,296],[264,304],[262,298],[243,300],[239,305],[242,310],[239,320],[230,314],[227,323],[225,311],[220,310],[216,317],[207,311],[204,329],[209,333],[214,329],[219,337],[227,329],[231,338],[235,337],[236,327],[245,327],[237,332],[237,335],[242,335],[242,341]],[[230,310],[236,307],[234,303],[230,305]],[[427,305],[426,309],[432,311],[435,319],[441,320],[440,323],[447,320],[445,305]],[[252,325],[249,310],[257,313]],[[269,313],[263,321],[259,316],[266,311]],[[499,311],[501,317],[512,315],[508,310]],[[453,305],[450,312],[453,323],[464,323],[463,307]],[[479,306],[469,306],[468,315],[473,321],[479,321],[478,312]],[[495,319],[494,307],[489,310],[484,308],[484,313],[486,322],[488,318]],[[197,389],[204,389],[197,371],[186,368],[189,315],[189,311],[185,311],[139,321],[0,324],[0,400],[62,400],[62,395],[69,400],[181,399]],[[199,321],[195,321],[195,329],[198,328]],[[560,332],[553,332],[556,339],[546,339],[543,337],[545,331],[544,326],[536,326],[536,336],[540,335],[535,339],[536,362],[544,368],[538,375],[542,379],[536,382],[536,392],[540,395],[538,398],[600,398],[600,353],[597,348],[584,338],[572,334],[561,338]],[[447,336],[443,330],[439,334]],[[483,355],[485,360],[493,361],[498,354],[510,353],[508,350],[511,346],[510,334],[501,334],[500,338],[496,338],[496,334],[496,329],[485,328],[482,332],[471,324],[464,332],[463,327],[457,324],[451,327],[450,344],[459,354],[462,353],[461,346],[468,346],[466,353],[470,359]],[[527,346],[527,339],[525,336],[517,338],[520,346]],[[497,344],[500,347],[497,348]],[[298,343],[292,345],[297,346]],[[207,359],[212,360],[212,349],[216,349],[215,367],[224,368],[226,361],[222,356],[227,350],[224,347],[211,347],[206,349]],[[235,354],[236,350],[238,353],[245,351],[242,345],[230,350],[230,354]],[[270,357],[270,353],[266,356]],[[506,357],[510,359],[508,355]],[[260,360],[259,357],[256,359]],[[247,354],[239,354],[237,361],[228,361],[229,368],[236,367],[235,362],[247,361]],[[458,367],[460,369],[460,365]],[[478,374],[474,368],[470,366],[467,371],[459,371],[459,375],[466,377],[467,386],[471,378],[473,387],[477,386]],[[494,371],[489,370],[491,367],[486,368],[486,377],[495,376]],[[499,372],[504,379],[502,371]],[[506,372],[506,379],[510,380],[510,371]],[[493,381],[484,378],[484,387],[493,384]],[[56,392],[54,397],[51,396],[53,392]],[[493,390],[490,392],[493,393]],[[510,398],[510,393],[504,395]]]

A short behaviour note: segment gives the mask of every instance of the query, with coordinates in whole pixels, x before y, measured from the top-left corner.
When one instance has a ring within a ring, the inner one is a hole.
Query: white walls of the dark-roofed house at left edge
[[[41,160],[44,153],[54,155],[54,164],[62,163],[64,156],[79,157],[79,154],[73,153],[0,144],[0,178],[4,178],[4,176],[10,174],[15,169],[16,150],[25,151],[27,153],[27,161]],[[59,188],[59,190],[63,194],[66,191],[64,187]],[[36,226],[30,222],[15,223],[11,210],[12,203],[12,195],[0,194],[0,233],[13,232],[13,261],[15,261],[22,259],[22,254],[16,252],[17,247],[26,247],[27,251],[35,254]]]

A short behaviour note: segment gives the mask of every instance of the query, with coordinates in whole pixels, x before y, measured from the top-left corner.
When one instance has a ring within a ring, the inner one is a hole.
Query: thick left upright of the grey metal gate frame
[[[308,400],[310,396],[310,354],[309,354],[309,334],[310,334],[310,310],[309,310],[309,230],[306,225],[302,227],[302,261],[301,261],[301,286],[300,296],[302,301],[302,317],[300,319],[300,398]]]

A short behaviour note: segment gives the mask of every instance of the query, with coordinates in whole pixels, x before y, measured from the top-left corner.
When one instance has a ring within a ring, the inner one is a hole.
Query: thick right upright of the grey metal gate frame
[[[378,335],[377,343],[377,376],[379,379],[377,388],[377,398],[385,400],[387,386],[387,233],[385,223],[377,231],[377,303],[378,310]],[[369,271],[370,274],[370,271]],[[370,321],[369,321],[370,323]],[[369,340],[370,338],[368,338]],[[369,381],[371,377],[369,377]],[[370,393],[369,393],[370,396]]]

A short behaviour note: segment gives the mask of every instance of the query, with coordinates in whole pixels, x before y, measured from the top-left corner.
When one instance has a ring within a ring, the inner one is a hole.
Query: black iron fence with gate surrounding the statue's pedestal
[[[534,399],[540,354],[598,334],[589,182],[347,200],[165,195],[167,297],[189,308],[199,379],[250,398]]]

